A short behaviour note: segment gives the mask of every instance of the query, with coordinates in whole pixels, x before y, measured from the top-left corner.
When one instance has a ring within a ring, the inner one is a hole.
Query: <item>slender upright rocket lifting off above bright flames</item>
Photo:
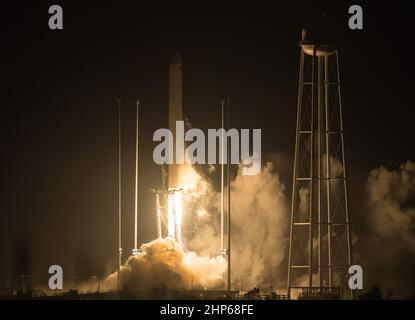
[[[183,153],[184,150],[177,150],[176,143],[176,121],[182,120],[182,89],[183,89],[183,62],[180,54],[175,51],[169,61],[169,130],[173,134],[173,155]],[[179,148],[182,147],[179,145]],[[168,189],[177,188],[179,183],[180,164],[170,164],[168,167]]]

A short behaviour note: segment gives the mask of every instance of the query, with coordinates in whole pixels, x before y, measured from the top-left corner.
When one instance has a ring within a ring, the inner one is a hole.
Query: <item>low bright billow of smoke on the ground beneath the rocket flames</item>
[[[226,261],[222,256],[209,258],[192,251],[180,250],[172,238],[157,239],[143,244],[141,253],[130,256],[121,268],[123,288],[190,289],[193,279],[195,286],[203,289],[224,286],[223,274]],[[91,290],[87,284],[81,291]],[[111,274],[101,284],[102,290],[117,288],[117,273]]]

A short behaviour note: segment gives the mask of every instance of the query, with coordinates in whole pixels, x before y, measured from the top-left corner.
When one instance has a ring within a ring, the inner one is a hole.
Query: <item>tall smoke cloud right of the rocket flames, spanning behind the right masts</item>
[[[252,288],[257,277],[278,277],[277,268],[287,253],[288,200],[285,187],[268,163],[258,175],[245,176],[239,170],[231,182],[232,214],[232,275],[233,288],[239,289],[243,277],[244,289]],[[220,193],[187,167],[183,177],[196,185],[184,193],[191,207],[185,216],[193,222],[185,246],[200,255],[214,257],[220,249]],[[226,229],[225,229],[226,230]],[[185,237],[186,238],[186,237]],[[225,248],[226,248],[225,234]],[[283,286],[282,283],[277,285]],[[275,285],[274,285],[275,288]]]

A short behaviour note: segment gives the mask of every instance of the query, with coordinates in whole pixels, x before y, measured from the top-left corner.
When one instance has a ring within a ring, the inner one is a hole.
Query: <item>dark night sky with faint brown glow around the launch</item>
[[[48,28],[51,4],[63,7],[62,31]],[[364,30],[348,29],[351,4],[362,5]],[[102,274],[114,267],[114,97],[124,101],[124,227],[131,229],[125,247],[133,238],[137,97],[142,107],[139,241],[155,236],[150,188],[160,185],[160,172],[152,162],[152,134],[167,125],[173,49],[183,57],[183,108],[193,126],[218,127],[219,101],[230,96],[232,126],[261,128],[263,151],[291,158],[301,29],[328,20],[340,50],[356,232],[366,228],[360,203],[369,171],[415,159],[413,18],[406,3],[19,1],[1,10],[2,277],[17,272],[21,251],[32,263],[18,272],[33,273],[39,281],[51,264],[61,264],[69,274]],[[290,190],[291,173],[282,177]]]

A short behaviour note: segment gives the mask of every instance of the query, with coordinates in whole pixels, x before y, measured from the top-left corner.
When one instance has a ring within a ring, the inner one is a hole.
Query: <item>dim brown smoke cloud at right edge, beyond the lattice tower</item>
[[[402,241],[415,253],[415,208],[408,205],[415,194],[415,163],[408,161],[398,171],[383,166],[372,170],[367,192],[373,233],[384,240]]]

